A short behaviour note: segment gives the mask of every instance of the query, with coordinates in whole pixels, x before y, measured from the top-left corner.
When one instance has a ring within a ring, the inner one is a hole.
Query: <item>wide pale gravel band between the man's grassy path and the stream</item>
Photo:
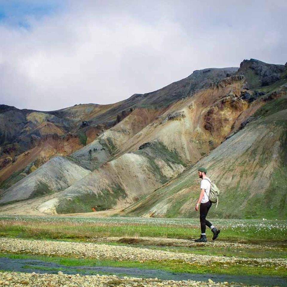
[[[116,260],[164,260],[181,259],[187,264],[197,263],[211,265],[213,262],[225,262],[247,266],[270,266],[287,268],[287,258],[241,258],[212,255],[186,254],[131,246],[115,246],[84,242],[63,242],[47,240],[27,240],[0,238],[0,251],[10,253],[25,253],[38,255],[72,256],[80,258],[116,259]]]

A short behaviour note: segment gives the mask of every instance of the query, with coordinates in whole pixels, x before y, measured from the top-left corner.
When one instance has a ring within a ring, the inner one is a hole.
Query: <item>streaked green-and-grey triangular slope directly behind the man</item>
[[[137,216],[198,216],[197,170],[221,189],[210,217],[287,218],[287,97],[268,102],[244,129],[214,149],[166,186],[125,210]]]

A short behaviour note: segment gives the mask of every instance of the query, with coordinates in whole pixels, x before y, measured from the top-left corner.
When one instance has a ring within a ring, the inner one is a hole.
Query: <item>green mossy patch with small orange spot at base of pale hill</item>
[[[58,214],[62,213],[82,213],[106,210],[114,207],[118,199],[127,197],[125,190],[120,185],[101,190],[100,193],[85,193],[74,196],[71,199],[61,199],[56,207]]]

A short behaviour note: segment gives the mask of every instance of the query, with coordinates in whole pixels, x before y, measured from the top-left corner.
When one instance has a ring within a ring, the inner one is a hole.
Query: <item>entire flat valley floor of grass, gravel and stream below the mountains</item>
[[[0,216],[1,286],[287,286],[287,222]]]

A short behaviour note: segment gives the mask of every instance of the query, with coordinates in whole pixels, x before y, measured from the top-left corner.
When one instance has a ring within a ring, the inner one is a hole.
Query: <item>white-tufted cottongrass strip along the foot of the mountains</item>
[[[270,239],[283,240],[287,235],[287,220],[267,219],[210,219],[222,233],[234,236],[247,236],[248,238],[269,237]],[[162,228],[199,228],[199,219],[195,218],[146,218],[146,217],[76,217],[76,216],[24,216],[1,215],[1,224],[8,225],[66,225],[66,226],[91,226],[91,227],[123,227],[127,233],[132,233],[133,226],[162,227]],[[135,232],[136,229],[134,230]],[[138,233],[137,236],[139,236]]]

